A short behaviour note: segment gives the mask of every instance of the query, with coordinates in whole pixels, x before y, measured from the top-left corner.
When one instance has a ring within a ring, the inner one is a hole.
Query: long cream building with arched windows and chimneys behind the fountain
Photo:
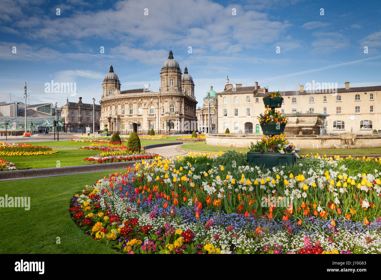
[[[351,88],[349,82],[345,88],[331,90],[283,91],[284,103],[279,110],[283,114],[328,114],[325,127],[327,133],[351,132],[368,134],[381,130],[381,86]],[[266,88],[237,84],[226,85],[226,90],[217,93],[218,133],[226,127],[232,133],[262,134],[256,117],[264,111],[262,98]]]

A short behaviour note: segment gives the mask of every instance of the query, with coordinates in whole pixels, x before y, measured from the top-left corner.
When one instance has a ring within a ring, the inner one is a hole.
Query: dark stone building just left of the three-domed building
[[[66,104],[61,107],[61,117],[65,120],[67,132],[85,132],[86,127],[91,128],[93,133],[93,104],[83,103],[82,97],[78,102],[69,102],[66,99]],[[95,131],[99,130],[99,118],[101,117],[101,105],[95,104],[94,120]]]

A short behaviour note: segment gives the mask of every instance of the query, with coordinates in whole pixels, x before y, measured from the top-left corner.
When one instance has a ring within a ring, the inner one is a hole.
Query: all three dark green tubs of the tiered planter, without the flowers
[[[266,97],[263,98],[264,107],[271,108],[274,112],[275,108],[282,107],[283,97]],[[280,135],[285,130],[285,123],[261,123],[261,128],[264,135]],[[279,129],[277,129],[279,128]],[[277,165],[293,164],[296,161],[295,153],[269,153],[269,152],[247,152],[247,160],[249,163],[254,163],[265,168],[272,168]]]

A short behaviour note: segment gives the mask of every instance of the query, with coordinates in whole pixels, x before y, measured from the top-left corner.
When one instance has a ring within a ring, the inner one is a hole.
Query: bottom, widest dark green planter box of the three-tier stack
[[[296,161],[295,153],[259,153],[247,152],[247,160],[265,168],[272,168],[277,165],[293,164]]]

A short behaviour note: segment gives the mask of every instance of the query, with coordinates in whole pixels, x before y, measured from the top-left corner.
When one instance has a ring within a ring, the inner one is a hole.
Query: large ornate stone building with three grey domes
[[[109,131],[130,134],[133,123],[138,123],[139,133],[151,128],[156,134],[192,132],[197,130],[196,104],[192,76],[185,67],[181,73],[172,50],[160,71],[160,88],[153,92],[146,88],[120,90],[120,80],[110,66],[104,77],[100,127],[107,124]]]

